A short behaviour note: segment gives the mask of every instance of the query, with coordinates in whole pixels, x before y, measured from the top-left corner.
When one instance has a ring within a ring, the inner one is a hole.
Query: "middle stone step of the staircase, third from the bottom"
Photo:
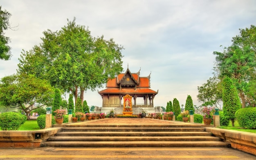
[[[83,132],[83,131],[72,131],[72,132],[59,132],[56,136],[211,136],[211,133],[205,131],[174,131],[174,132]]]

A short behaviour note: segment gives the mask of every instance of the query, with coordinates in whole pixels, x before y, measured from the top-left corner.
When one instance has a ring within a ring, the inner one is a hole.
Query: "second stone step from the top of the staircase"
[[[62,129],[63,132],[66,131],[115,131],[115,132],[130,132],[130,131],[158,131],[158,132],[162,132],[162,131],[168,131],[168,132],[173,132],[173,131],[205,131],[204,128],[192,128],[192,127],[171,127],[171,128],[163,128],[163,127],[67,127],[67,128],[63,128]]]

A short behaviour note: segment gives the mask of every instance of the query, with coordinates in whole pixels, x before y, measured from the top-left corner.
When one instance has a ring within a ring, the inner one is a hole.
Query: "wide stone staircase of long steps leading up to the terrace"
[[[74,124],[42,147],[228,147],[201,124]]]

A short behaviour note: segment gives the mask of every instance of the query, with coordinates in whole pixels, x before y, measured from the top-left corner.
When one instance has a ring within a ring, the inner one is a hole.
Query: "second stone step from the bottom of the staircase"
[[[66,141],[187,141],[187,140],[211,140],[211,141],[219,141],[220,138],[213,137],[213,136],[144,136],[141,138],[141,136],[54,136],[52,138],[49,138],[48,140],[66,140]]]

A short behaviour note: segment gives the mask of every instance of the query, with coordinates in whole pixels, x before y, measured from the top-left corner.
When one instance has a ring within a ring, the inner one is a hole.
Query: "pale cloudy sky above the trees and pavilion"
[[[12,14],[15,30],[5,32],[13,56],[0,60],[0,78],[16,73],[22,49],[40,44],[43,31],[60,30],[76,17],[92,36],[124,46],[124,71],[129,64],[133,73],[141,69],[141,76],[151,72],[151,89],[159,90],[154,104],[164,107],[173,98],[185,104],[187,95],[200,106],[197,87],[212,76],[213,51],[231,45],[239,28],[256,25],[255,0],[2,0],[0,5]],[[97,91],[87,91],[85,100],[101,106]]]

